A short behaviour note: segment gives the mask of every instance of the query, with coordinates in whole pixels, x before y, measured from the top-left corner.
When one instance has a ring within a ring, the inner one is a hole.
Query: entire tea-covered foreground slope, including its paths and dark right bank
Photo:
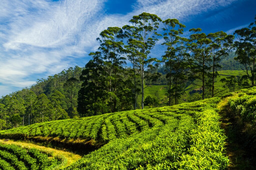
[[[255,95],[253,87],[170,107],[2,130],[0,167],[254,169]]]

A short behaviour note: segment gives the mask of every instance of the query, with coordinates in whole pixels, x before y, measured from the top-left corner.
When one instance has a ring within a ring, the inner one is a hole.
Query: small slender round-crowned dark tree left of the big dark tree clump
[[[74,90],[76,93],[78,92],[77,88],[76,88],[77,82],[78,82],[78,80],[76,78],[71,77],[64,84],[64,87],[67,87],[67,92],[69,92],[69,94],[70,94],[69,99],[71,102],[71,119],[73,118],[73,93],[74,93]],[[64,98],[65,98],[65,96],[64,96]]]

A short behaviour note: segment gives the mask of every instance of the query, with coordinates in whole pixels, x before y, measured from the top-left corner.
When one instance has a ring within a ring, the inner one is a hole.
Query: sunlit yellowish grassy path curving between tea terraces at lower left
[[[78,154],[74,154],[72,152],[66,152],[66,151],[62,151],[62,150],[57,150],[57,149],[53,149],[53,148],[48,148],[48,147],[44,147],[44,146],[39,146],[39,145],[35,145],[33,143],[25,143],[25,142],[19,142],[19,141],[13,141],[13,140],[9,140],[7,142],[4,142],[3,139],[0,139],[1,143],[5,143],[5,144],[15,144],[15,145],[20,145],[23,147],[28,147],[28,148],[36,148],[36,149],[40,149],[40,150],[47,150],[47,151],[52,151],[53,155],[63,155],[67,158],[68,163],[67,166],[76,162],[78,159],[82,158],[81,155]]]

